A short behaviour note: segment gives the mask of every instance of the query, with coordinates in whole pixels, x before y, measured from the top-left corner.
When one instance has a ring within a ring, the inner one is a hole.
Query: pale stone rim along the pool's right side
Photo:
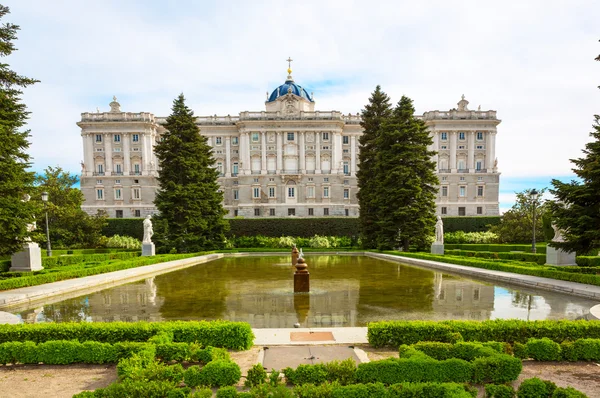
[[[514,274],[512,272],[494,271],[483,268],[467,267],[464,265],[442,263],[432,260],[422,260],[418,258],[396,256],[393,254],[365,252],[366,256],[379,258],[382,260],[391,260],[398,263],[417,265],[426,268],[434,268],[441,271],[461,274],[485,279],[519,285],[524,287],[533,287],[546,291],[569,294],[572,296],[583,297],[587,299],[600,301],[600,286],[587,285],[578,282],[561,281],[558,279],[543,278],[540,276]]]

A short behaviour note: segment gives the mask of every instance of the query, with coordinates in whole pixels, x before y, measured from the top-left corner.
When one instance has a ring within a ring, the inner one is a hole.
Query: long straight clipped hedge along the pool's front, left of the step
[[[103,343],[145,342],[161,333],[173,334],[174,342],[247,350],[254,334],[250,325],[229,321],[94,322],[0,325],[0,343],[50,340],[98,341]]]

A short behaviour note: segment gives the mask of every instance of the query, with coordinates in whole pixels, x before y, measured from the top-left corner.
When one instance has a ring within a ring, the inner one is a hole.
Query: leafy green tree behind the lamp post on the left
[[[60,167],[48,167],[44,174],[36,176],[31,200],[37,202],[39,209],[36,214],[38,231],[43,231],[42,222],[45,222],[47,211],[53,246],[82,248],[101,245],[101,230],[107,216],[105,213],[89,216],[81,209],[83,194],[73,187],[78,182],[77,176],[64,172]],[[42,192],[48,192],[48,202],[45,204],[42,202]],[[36,240],[45,243],[46,235],[40,233]]]

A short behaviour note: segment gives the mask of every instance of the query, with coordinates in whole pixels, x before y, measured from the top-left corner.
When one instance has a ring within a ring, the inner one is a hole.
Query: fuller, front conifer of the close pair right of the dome
[[[422,120],[415,118],[412,100],[402,96],[376,137],[377,247],[414,244],[426,247],[435,229],[438,178],[433,143]]]

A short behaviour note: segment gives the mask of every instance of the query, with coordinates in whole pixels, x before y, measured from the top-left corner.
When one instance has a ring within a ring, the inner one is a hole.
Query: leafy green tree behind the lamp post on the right
[[[500,224],[493,226],[490,232],[498,235],[500,243],[530,243],[533,239],[533,212],[535,210],[536,240],[545,239],[542,219],[547,217],[548,205],[541,199],[546,189],[539,190],[539,196],[533,199],[531,189],[517,192],[513,207],[502,215]]]

